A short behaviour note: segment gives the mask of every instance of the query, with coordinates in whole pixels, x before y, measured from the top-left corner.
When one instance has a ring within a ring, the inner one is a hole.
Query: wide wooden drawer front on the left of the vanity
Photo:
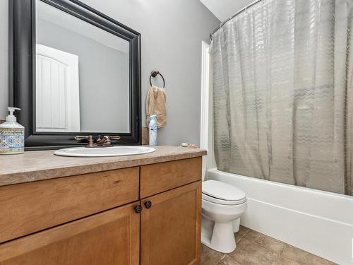
[[[0,187],[0,242],[138,200],[138,167]]]

